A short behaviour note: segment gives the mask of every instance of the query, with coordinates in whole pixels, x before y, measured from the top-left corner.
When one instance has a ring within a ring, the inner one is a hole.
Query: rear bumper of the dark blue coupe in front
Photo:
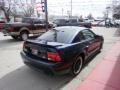
[[[35,68],[37,70],[42,70],[53,74],[65,74],[70,72],[70,67],[64,68],[65,64],[63,62],[43,62],[43,60],[37,60],[27,56],[23,51],[20,54],[23,59],[23,62],[31,68]]]

